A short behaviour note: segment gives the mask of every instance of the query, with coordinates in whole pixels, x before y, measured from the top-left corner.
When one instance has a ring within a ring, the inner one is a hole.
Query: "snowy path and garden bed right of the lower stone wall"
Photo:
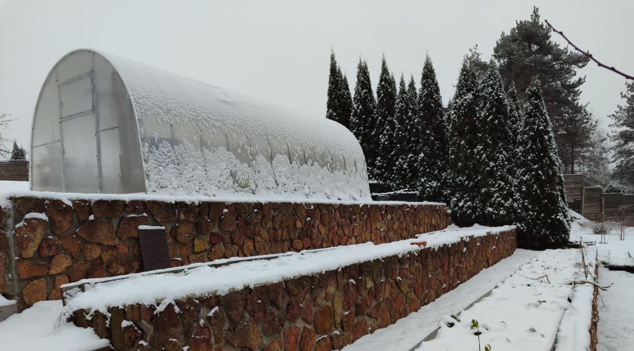
[[[590,252],[590,256],[594,257],[594,253]],[[558,342],[566,342],[566,346],[558,347],[558,350],[578,349],[578,345],[590,343],[587,330],[593,290],[592,286],[573,288],[569,285],[573,279],[583,279],[580,276],[583,269],[578,262],[577,250],[517,250],[511,257],[482,271],[436,302],[393,326],[364,336],[344,351],[370,347],[410,350],[437,326],[441,328],[436,336],[423,342],[417,350],[477,350],[475,329],[470,328],[472,319],[479,321],[482,350],[486,344],[493,350],[550,350],[555,336]],[[593,261],[590,262],[592,265]],[[490,296],[462,310],[496,285]],[[583,291],[583,299],[575,302],[574,297],[579,291]],[[558,333],[559,321],[569,311],[573,317],[562,323],[567,328]],[[450,317],[458,312],[460,321]],[[586,332],[581,333],[583,330]]]

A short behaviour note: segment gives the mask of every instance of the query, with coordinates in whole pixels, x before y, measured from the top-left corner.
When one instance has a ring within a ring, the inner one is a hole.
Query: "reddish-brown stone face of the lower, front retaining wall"
[[[166,301],[161,311],[124,305],[110,307],[109,319],[84,309],[72,319],[116,350],[335,350],[396,323],[516,248],[515,230],[501,231],[226,295]]]

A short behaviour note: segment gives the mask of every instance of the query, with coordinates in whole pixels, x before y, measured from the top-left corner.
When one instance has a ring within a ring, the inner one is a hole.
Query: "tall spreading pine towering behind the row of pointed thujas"
[[[560,47],[550,34],[534,7],[530,20],[517,21],[508,34],[501,34],[493,57],[500,63],[505,85],[514,83],[521,101],[527,99],[524,92],[531,80],[540,80],[548,116],[557,130],[559,157],[570,172],[578,162],[577,155],[587,149],[580,140],[590,140],[593,133],[592,120],[586,118],[585,106],[579,104],[579,88],[585,77],[577,76],[577,70],[586,66],[589,59]]]

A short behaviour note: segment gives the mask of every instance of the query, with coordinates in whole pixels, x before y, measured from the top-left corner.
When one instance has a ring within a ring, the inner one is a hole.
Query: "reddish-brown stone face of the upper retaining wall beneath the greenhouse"
[[[60,285],[68,282],[142,269],[139,225],[165,226],[171,265],[182,266],[223,257],[387,243],[450,223],[442,205],[402,203],[16,197],[0,210],[0,293],[17,299],[20,309],[60,299]],[[36,213],[46,217],[30,215]]]

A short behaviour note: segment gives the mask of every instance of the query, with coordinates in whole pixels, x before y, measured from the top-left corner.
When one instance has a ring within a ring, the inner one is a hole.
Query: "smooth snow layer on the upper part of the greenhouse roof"
[[[238,92],[176,75],[120,56],[103,54],[126,84],[135,112],[164,123],[223,125],[245,133],[292,138],[317,149],[363,153],[347,128],[326,118],[310,118]]]

